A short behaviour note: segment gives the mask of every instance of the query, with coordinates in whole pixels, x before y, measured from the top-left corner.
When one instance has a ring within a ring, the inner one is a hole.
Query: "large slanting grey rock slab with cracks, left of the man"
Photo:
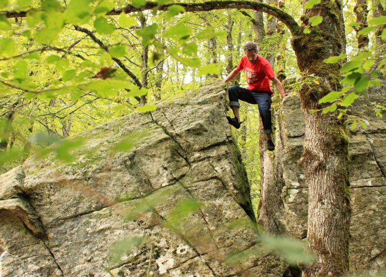
[[[72,163],[32,158],[1,175],[0,276],[282,276],[256,242],[224,89],[84,132]]]

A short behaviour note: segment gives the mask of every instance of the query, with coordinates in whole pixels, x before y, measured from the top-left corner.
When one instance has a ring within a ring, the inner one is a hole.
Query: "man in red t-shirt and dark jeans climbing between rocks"
[[[284,91],[282,83],[276,78],[272,66],[264,57],[257,54],[257,46],[252,42],[248,42],[244,46],[245,56],[243,56],[237,66],[225,78],[225,83],[234,79],[243,69],[246,75],[248,86],[246,89],[239,86],[232,86],[228,90],[229,106],[232,108],[235,118],[227,116],[229,124],[235,128],[240,128],[239,100],[257,104],[261,121],[263,122],[264,134],[267,135],[268,150],[275,149],[275,144],[272,142],[272,122],[271,122],[271,96],[272,89],[270,80],[274,83],[276,89],[284,97],[287,93]]]

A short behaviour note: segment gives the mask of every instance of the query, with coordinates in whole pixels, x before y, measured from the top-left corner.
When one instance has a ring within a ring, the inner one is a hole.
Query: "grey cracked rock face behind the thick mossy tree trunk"
[[[386,118],[363,104],[386,103],[385,87],[373,87],[369,99],[358,98],[350,115],[367,128],[350,130],[350,270],[377,272],[386,266]],[[298,96],[288,96],[275,110],[276,153],[263,157],[262,198],[258,221],[273,233],[307,236],[308,188],[297,162],[303,151],[304,120]],[[359,125],[359,124],[358,124]],[[271,203],[276,203],[274,206]]]

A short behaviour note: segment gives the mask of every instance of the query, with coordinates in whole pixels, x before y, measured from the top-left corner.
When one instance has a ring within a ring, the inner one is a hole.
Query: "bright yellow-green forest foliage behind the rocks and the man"
[[[169,0],[157,0],[152,9],[125,14],[131,11],[122,9],[128,4],[139,10],[146,2],[0,0],[1,173],[34,153],[44,157],[54,152],[71,162],[71,149],[84,141],[65,138],[131,112],[154,110],[155,101],[223,79],[237,65],[247,41],[258,44],[259,54],[271,62],[279,79],[286,79],[287,91],[320,85],[319,77],[299,70],[308,65],[298,64],[284,23],[245,9],[185,13],[187,5],[198,2],[169,5]],[[326,18],[317,12],[304,17],[303,11],[320,3],[267,4],[291,15],[306,41]],[[366,88],[382,85],[378,78],[385,73],[385,1],[347,0],[338,5],[344,17],[343,50],[332,49],[332,57],[324,62],[343,65],[344,78],[334,76],[341,79],[341,88],[322,93],[319,103],[324,105],[313,112],[331,112],[355,129],[366,122],[347,113],[350,104],[365,95]],[[287,26],[291,24],[287,20]],[[334,56],[336,52],[341,54]],[[236,83],[245,86],[243,80],[241,74]],[[363,109],[382,117],[386,108],[385,103],[372,102]],[[257,107],[244,105],[241,117],[244,124],[236,137],[257,204]]]

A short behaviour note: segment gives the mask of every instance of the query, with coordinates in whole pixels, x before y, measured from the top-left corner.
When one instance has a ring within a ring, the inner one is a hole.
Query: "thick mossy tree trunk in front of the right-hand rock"
[[[299,164],[309,187],[307,243],[317,261],[303,268],[303,277],[340,276],[348,272],[348,230],[350,223],[348,140],[344,123],[331,113],[311,113],[318,100],[339,90],[338,64],[323,60],[343,51],[340,2],[322,1],[306,10],[323,22],[311,34],[294,37],[292,45],[300,71],[315,74],[319,85],[304,87],[300,100],[305,117],[304,151]]]

